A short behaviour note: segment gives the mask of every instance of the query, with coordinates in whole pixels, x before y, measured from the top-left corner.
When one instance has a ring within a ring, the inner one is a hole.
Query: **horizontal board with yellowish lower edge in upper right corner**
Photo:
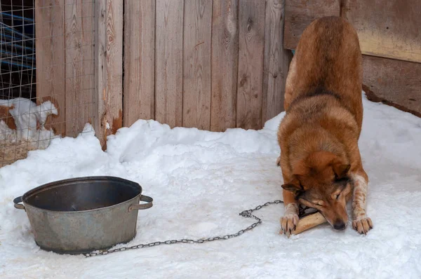
[[[344,1],[342,17],[356,29],[363,54],[421,62],[421,1]]]

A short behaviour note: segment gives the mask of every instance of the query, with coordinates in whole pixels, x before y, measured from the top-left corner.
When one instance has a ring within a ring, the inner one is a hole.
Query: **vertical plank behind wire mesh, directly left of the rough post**
[[[65,90],[66,135],[75,137],[92,121],[95,90],[93,60],[93,3],[67,0],[65,3]]]

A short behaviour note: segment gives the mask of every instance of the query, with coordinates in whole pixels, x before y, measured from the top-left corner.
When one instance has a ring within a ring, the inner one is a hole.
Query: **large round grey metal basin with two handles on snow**
[[[119,177],[52,182],[27,191],[13,202],[27,212],[36,244],[60,254],[128,243],[136,236],[138,210],[152,207],[152,198],[142,196],[138,183]]]

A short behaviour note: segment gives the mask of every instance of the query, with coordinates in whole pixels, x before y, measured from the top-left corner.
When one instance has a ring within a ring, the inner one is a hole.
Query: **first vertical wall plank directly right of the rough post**
[[[154,118],[155,0],[124,1],[123,125]]]

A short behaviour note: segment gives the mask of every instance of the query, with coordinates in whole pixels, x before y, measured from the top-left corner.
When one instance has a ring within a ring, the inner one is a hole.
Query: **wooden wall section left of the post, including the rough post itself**
[[[47,128],[74,137],[91,123],[105,148],[123,122],[123,1],[34,4],[36,98],[58,109]]]

